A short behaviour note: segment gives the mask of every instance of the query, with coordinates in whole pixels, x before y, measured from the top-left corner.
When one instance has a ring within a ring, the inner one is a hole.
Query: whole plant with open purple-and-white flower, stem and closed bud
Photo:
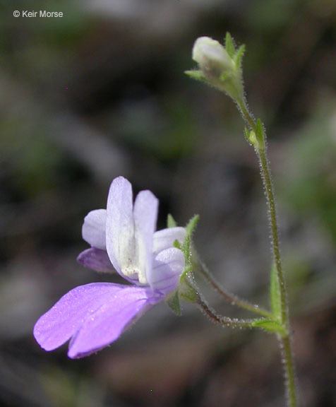
[[[140,191],[133,202],[131,183],[124,177],[112,181],[107,208],[91,211],[82,235],[90,248],[78,262],[100,273],[118,273],[124,283],[90,283],[73,288],[37,320],[34,336],[44,350],[67,341],[68,357],[82,358],[108,346],[148,309],[166,302],[181,314],[181,300],[192,302],[222,326],[258,328],[275,334],[282,349],[288,406],[296,406],[294,362],[291,353],[286,285],[280,260],[275,201],[267,158],[265,131],[246,105],[241,74],[244,46],[234,47],[227,34],[225,47],[200,37],[193,47],[198,68],[186,73],[229,95],[246,122],[245,135],[260,161],[268,201],[273,261],[270,271],[270,311],[223,290],[201,263],[191,238],[198,216],[185,228],[168,216],[167,228],[156,231],[158,200]],[[258,315],[232,319],[217,314],[205,302],[193,278],[201,273],[225,300]]]

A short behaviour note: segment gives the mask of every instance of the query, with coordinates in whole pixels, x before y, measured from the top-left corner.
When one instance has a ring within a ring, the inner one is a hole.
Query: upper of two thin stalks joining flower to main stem
[[[241,307],[247,309],[248,311],[255,312],[256,314],[262,315],[263,317],[273,318],[273,314],[269,312],[267,309],[259,307],[258,305],[251,304],[251,302],[248,302],[246,300],[241,300],[236,295],[228,293],[220,286],[219,283],[217,283],[214,276],[212,276],[212,274],[204,264],[198,261],[198,265],[199,265],[198,271],[202,274],[205,280],[208,281],[208,283],[210,283],[212,288],[214,288],[214,290],[216,290],[217,293],[219,293],[225,300],[230,302],[232,305],[236,305],[237,307]]]

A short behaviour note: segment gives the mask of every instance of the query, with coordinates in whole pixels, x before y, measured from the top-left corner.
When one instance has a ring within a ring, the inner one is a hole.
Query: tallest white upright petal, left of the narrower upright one
[[[130,182],[124,177],[112,181],[107,198],[106,246],[116,271],[128,252],[134,249],[133,194]]]

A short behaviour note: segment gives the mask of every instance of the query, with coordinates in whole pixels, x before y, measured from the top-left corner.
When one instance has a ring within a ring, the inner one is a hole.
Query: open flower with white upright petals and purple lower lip
[[[78,261],[96,271],[116,271],[131,285],[91,283],[69,291],[35,324],[34,336],[45,350],[71,339],[69,358],[90,355],[115,341],[153,305],[176,288],[184,255],[173,247],[184,228],[155,232],[158,200],[140,191],[133,206],[132,187],[114,179],[107,209],[91,211],[83,224],[83,239],[91,248]]]

